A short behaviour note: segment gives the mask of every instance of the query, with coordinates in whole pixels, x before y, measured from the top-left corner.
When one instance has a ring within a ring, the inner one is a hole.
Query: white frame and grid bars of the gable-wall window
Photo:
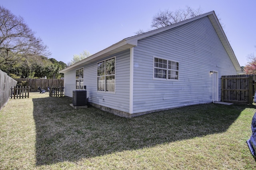
[[[163,62],[163,65],[166,65],[166,68],[164,68],[164,67],[157,67],[157,65],[155,65],[155,58],[166,60],[166,63]],[[176,69],[169,68],[169,62],[178,63],[178,66],[177,65],[174,66],[174,67],[176,67]],[[153,57],[153,79],[156,79],[156,80],[167,80],[167,81],[179,81],[179,79],[180,79],[179,67],[180,67],[180,63],[178,61],[174,61],[174,60],[170,60],[170,59],[165,59],[165,58],[162,58],[162,57],[154,56]],[[165,70],[166,72],[165,73],[155,73],[156,69]],[[171,71],[171,72],[172,71],[178,72],[178,75],[175,75],[175,77],[177,76],[177,79],[168,78],[169,76],[172,76],[171,74],[169,74],[169,71]],[[162,74],[162,75],[165,75],[165,77],[164,78],[162,78],[162,77],[155,77],[155,74]]]

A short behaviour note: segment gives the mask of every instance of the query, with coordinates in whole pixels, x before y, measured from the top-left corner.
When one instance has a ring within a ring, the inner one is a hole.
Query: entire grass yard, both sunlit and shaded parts
[[[205,104],[126,119],[30,93],[0,111],[0,169],[256,169],[252,105]]]

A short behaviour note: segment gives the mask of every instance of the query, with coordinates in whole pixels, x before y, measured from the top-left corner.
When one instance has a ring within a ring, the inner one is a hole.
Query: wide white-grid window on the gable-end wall
[[[179,80],[179,63],[154,57],[154,79]]]

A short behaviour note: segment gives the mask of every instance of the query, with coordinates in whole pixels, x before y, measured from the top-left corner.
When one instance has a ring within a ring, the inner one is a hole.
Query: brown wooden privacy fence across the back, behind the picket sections
[[[26,81],[30,86],[30,90],[37,90],[38,87],[41,89],[47,89],[48,87],[63,87],[64,79],[15,79],[20,83]]]

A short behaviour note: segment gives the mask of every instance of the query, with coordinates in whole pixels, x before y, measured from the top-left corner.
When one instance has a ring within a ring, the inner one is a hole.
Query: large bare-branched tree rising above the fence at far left
[[[0,6],[0,68],[15,65],[28,55],[50,55],[48,47],[34,34],[22,17]]]

